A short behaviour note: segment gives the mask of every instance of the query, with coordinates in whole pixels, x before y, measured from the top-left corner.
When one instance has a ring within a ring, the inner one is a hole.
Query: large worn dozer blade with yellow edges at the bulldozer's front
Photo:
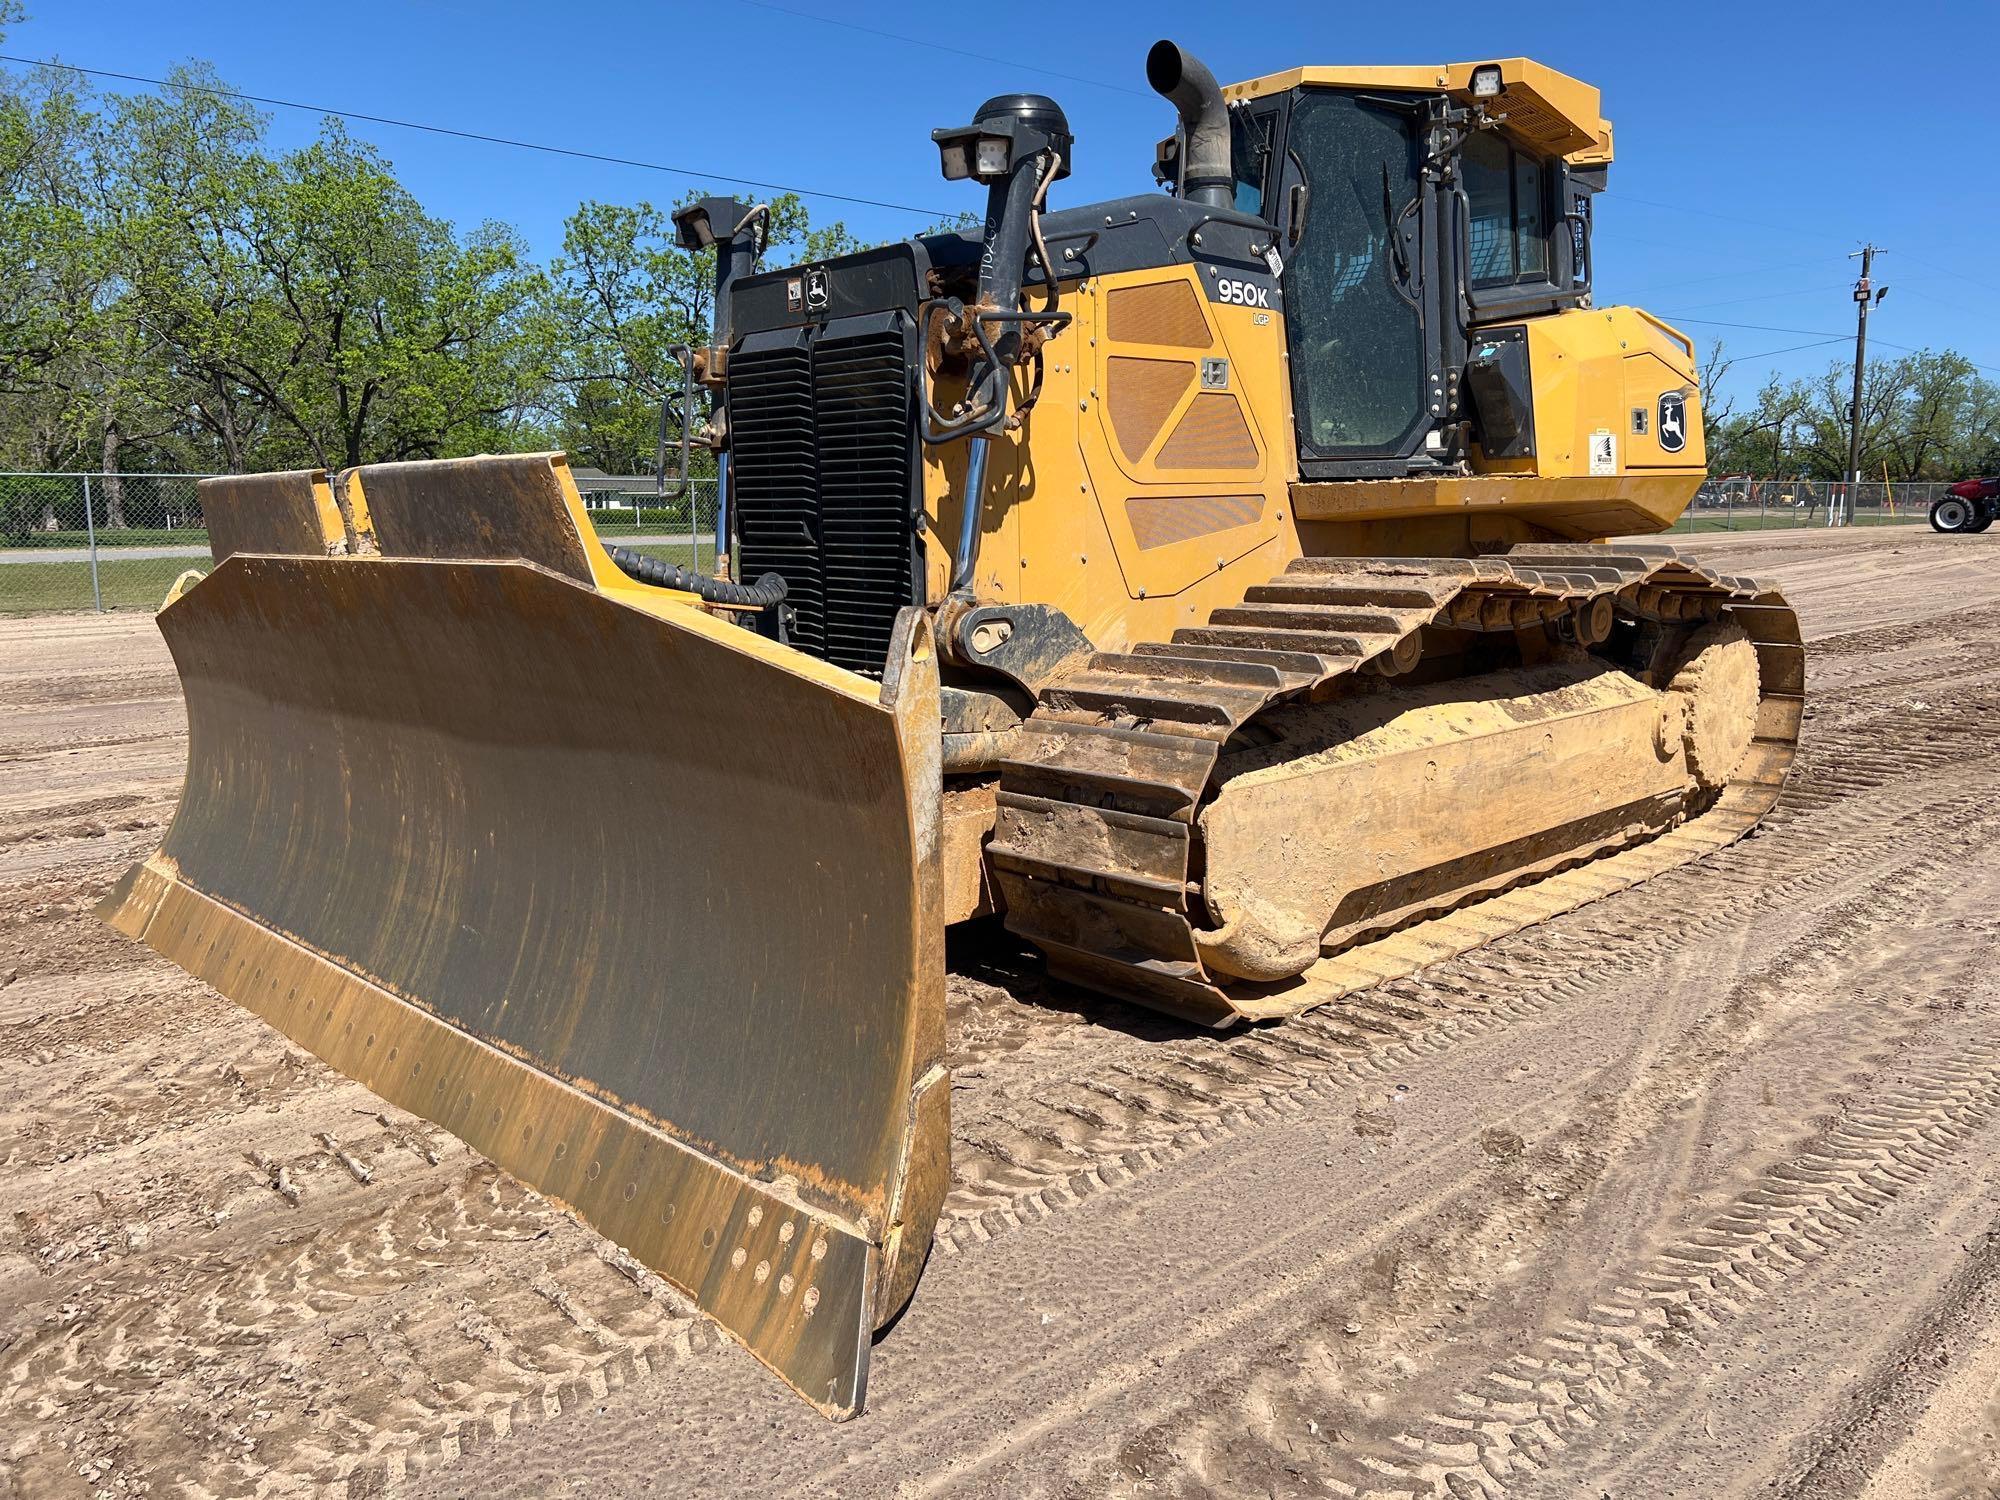
[[[560,456],[338,488],[208,496],[186,788],[100,914],[858,1412],[946,1180],[922,612],[876,684],[624,584]]]

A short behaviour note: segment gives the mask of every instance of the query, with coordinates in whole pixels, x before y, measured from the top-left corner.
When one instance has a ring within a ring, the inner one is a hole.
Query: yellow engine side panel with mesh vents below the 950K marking
[[[1052,604],[1098,646],[1158,640],[1298,556],[1284,318],[1192,266],[1066,290],[1042,394],[992,444],[974,590]],[[924,454],[928,596],[950,582],[966,442]]]

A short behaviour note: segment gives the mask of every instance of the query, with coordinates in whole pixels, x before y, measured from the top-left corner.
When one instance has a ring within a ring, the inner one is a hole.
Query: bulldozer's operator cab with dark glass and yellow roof
[[[1224,96],[1232,206],[1284,260],[1300,478],[1458,464],[1468,364],[1496,342],[1478,328],[1590,304],[1598,92],[1514,58],[1298,68]],[[1170,178],[1174,142],[1160,156]],[[1520,360],[1506,342],[1484,358]]]

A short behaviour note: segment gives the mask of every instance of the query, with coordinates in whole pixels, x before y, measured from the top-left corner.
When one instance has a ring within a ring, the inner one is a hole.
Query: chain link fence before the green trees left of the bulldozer
[[[0,474],[0,614],[156,610],[206,572],[202,474]],[[606,542],[704,572],[716,564],[716,482],[662,500],[650,474],[578,474]]]

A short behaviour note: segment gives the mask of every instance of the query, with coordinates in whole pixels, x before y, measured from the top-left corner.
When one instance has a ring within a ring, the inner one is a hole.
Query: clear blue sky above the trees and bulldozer
[[[1888,248],[1876,262],[1890,294],[1870,322],[1872,348],[1956,348],[2000,378],[1994,0],[1158,0],[1006,6],[990,12],[998,26],[974,26],[984,12],[972,6],[914,0],[28,0],[28,10],[6,38],[12,54],[148,76],[206,58],[254,94],[932,214],[976,208],[978,194],[938,178],[930,128],[960,124],[984,96],[1016,88],[1054,94],[1076,130],[1076,172],[1058,186],[1058,204],[1148,188],[1152,142],[1172,124],[1144,84],[1158,36],[1188,46],[1224,82],[1310,62],[1526,54],[1602,88],[1618,132],[1612,192],[1598,204],[1600,298],[1722,338],[1740,360],[1730,380],[1738,398],[1768,372],[1808,374],[1846,352],[1794,346],[1852,332],[1856,262],[1846,256],[1864,238]],[[316,128],[312,114],[272,112],[278,144]],[[432,212],[504,220],[544,256],[582,198],[670,202],[694,184],[390,126],[352,130],[394,160]],[[868,240],[926,222],[812,206]]]

